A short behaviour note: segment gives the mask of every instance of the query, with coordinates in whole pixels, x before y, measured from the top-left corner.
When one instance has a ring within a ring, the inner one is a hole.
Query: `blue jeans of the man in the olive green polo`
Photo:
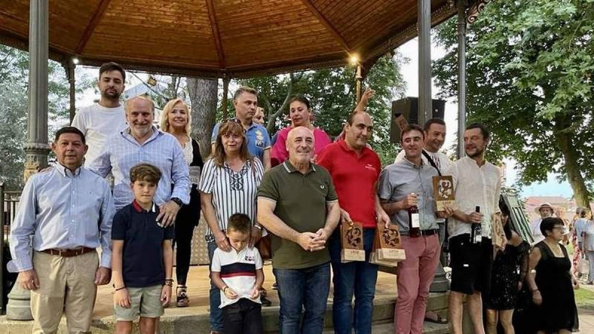
[[[321,334],[330,292],[330,263],[303,269],[273,269],[273,272],[279,286],[280,333]]]

